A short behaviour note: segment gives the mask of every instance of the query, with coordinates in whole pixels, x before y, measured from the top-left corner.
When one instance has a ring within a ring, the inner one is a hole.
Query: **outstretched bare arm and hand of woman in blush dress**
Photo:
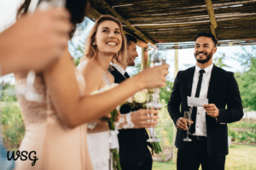
[[[68,127],[76,127],[106,115],[140,89],[165,86],[168,68],[169,65],[161,65],[145,69],[136,77],[120,83],[117,88],[103,94],[81,97],[73,63],[66,50],[61,59],[44,71],[44,77],[61,120]]]

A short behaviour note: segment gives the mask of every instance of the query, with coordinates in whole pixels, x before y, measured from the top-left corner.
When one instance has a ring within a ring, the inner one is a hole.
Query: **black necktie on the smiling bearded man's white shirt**
[[[203,73],[206,72],[205,70],[200,70],[199,73],[199,79],[197,82],[197,88],[195,91],[195,98],[199,98],[200,95],[200,91],[201,91],[201,81],[202,81],[202,77],[203,77]],[[193,111],[192,111],[192,121],[194,122],[193,124],[191,124],[191,127],[189,129],[189,132],[191,134],[195,133],[195,122],[196,122],[196,112],[197,112],[197,107],[193,107]]]

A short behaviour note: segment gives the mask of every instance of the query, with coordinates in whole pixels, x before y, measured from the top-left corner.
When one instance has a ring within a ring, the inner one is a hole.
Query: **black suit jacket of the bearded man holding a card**
[[[179,71],[175,78],[171,99],[168,102],[168,111],[175,124],[177,119],[183,116],[184,111],[188,109],[187,96],[191,96],[194,74],[195,66],[185,71]],[[243,116],[241,96],[234,73],[213,65],[207,99],[209,104],[215,104],[219,110],[218,122],[212,116],[206,116],[208,156],[228,155],[226,123],[239,121]],[[225,109],[226,105],[227,109]],[[175,145],[180,150],[183,150],[185,137],[185,131],[177,129]]]

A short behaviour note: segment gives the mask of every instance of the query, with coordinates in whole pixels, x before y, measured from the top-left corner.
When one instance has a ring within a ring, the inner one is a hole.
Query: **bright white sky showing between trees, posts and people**
[[[17,8],[20,6],[21,0],[0,0],[0,32],[4,29],[8,28],[11,24],[15,23],[15,14]],[[88,36],[90,29],[94,25],[94,22],[91,20],[87,20],[87,27],[84,31],[80,31],[79,33],[76,32],[75,36],[73,37],[72,42],[77,45],[81,44],[81,41],[84,41],[85,38]],[[82,44],[83,45],[83,44]],[[250,46],[246,46],[247,50],[250,50]],[[166,63],[170,65],[169,68],[169,75],[168,80],[174,80],[174,50],[166,50],[161,51],[162,54],[166,55]],[[141,48],[137,47],[137,53],[139,57],[136,59],[136,63],[141,61]],[[213,59],[215,56],[219,56],[222,53],[226,54],[226,59],[224,59],[224,64],[230,65],[231,68],[224,68],[227,71],[244,71],[244,68],[241,66],[236,59],[231,59],[231,57],[235,57],[236,53],[241,53],[241,47],[239,46],[229,46],[229,47],[218,47],[217,53],[213,55]],[[184,65],[195,65],[195,57],[194,57],[194,48],[187,48],[187,49],[179,49],[178,50],[178,68],[179,70],[184,70]],[[128,73],[132,72],[132,67],[128,67]],[[10,82],[14,84],[15,79],[13,74],[7,75],[5,77],[0,78],[0,82]]]

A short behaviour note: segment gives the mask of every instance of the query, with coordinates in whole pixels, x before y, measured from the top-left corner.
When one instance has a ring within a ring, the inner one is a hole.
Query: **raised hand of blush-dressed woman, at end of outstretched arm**
[[[140,89],[159,88],[166,86],[166,76],[168,75],[169,65],[154,66],[146,68],[134,78]]]

